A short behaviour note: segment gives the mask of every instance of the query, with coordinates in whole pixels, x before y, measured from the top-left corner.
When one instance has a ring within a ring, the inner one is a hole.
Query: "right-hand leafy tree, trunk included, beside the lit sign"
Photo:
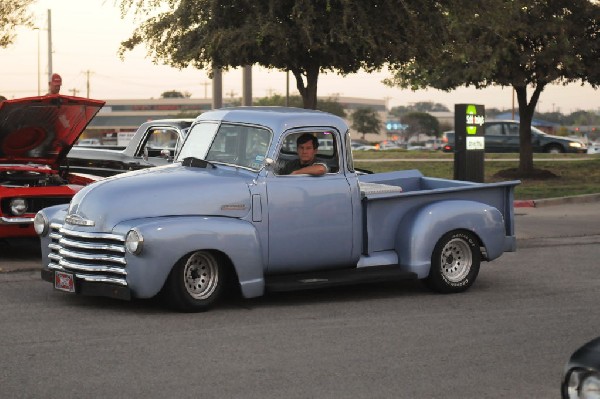
[[[550,83],[600,84],[600,4],[590,0],[438,2],[437,24],[416,40],[422,51],[393,65],[390,85],[452,90],[512,86],[519,103],[519,174],[534,173],[531,121]],[[528,98],[528,90],[532,89]]]

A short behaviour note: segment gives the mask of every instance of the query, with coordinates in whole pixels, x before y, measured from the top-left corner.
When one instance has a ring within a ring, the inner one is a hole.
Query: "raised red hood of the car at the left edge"
[[[0,162],[58,168],[104,101],[60,94],[0,102]]]

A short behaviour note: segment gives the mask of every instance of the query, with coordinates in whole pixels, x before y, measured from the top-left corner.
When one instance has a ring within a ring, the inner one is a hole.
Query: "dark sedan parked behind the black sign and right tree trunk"
[[[519,122],[487,121],[485,128],[485,152],[519,152]],[[442,135],[444,152],[454,152],[454,132]],[[576,139],[553,136],[531,127],[531,144],[533,152],[546,153],[586,153],[587,146]]]

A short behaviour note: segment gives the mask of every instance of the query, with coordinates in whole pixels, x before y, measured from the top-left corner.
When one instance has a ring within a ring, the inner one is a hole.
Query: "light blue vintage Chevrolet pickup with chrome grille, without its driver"
[[[280,174],[305,133],[332,144],[317,154],[327,173]],[[196,119],[175,163],[109,177],[40,211],[42,278],[83,295],[162,293],[183,311],[206,310],[235,287],[250,298],[422,279],[457,293],[481,261],[516,249],[518,183],[364,174],[336,116],[214,110]]]

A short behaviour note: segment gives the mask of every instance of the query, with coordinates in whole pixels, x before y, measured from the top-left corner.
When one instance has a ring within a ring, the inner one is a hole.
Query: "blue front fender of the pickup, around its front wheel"
[[[229,257],[244,297],[263,294],[262,252],[251,223],[225,217],[160,217],[124,222],[113,231],[125,235],[134,227],[144,238],[140,255],[125,255],[127,283],[134,296],[156,295],[175,263],[198,250],[216,250]]]

